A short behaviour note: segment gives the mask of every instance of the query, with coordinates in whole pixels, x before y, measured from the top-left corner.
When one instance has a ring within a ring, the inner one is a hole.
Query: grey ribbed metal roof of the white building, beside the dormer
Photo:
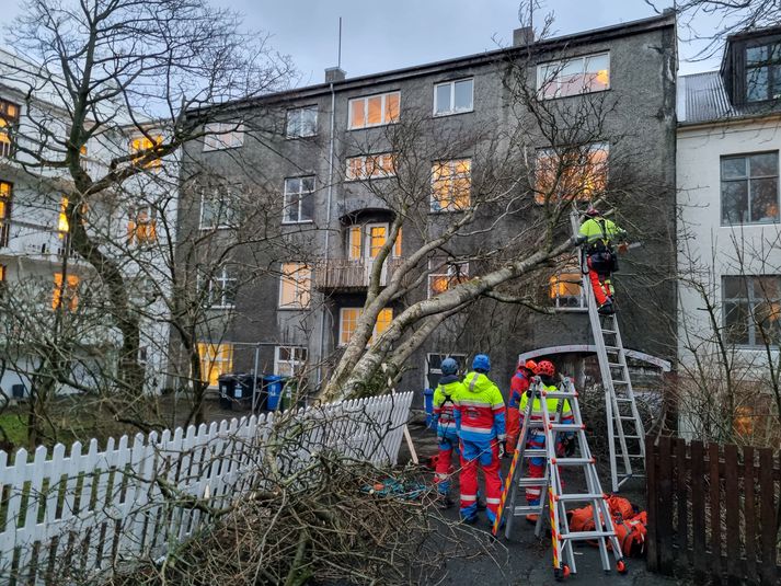
[[[719,71],[678,78],[680,126],[755,118],[768,114],[781,114],[781,111],[778,105],[767,102],[733,105]]]

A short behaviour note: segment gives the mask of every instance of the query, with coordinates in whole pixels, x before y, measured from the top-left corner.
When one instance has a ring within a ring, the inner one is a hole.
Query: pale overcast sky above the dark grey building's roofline
[[[16,7],[11,14],[4,10],[5,19],[19,12],[21,2],[12,1]],[[298,85],[323,81],[323,70],[336,65],[340,16],[342,68],[348,77],[495,49],[509,44],[513,28],[519,26],[518,0],[216,1],[243,13],[248,28],[272,35],[274,48],[290,55],[300,71]],[[655,0],[657,5],[666,2],[671,0]],[[552,11],[556,34],[654,15],[643,0],[541,0],[540,3],[538,20]],[[701,21],[699,32],[707,32],[708,25]],[[717,69],[717,59],[691,61],[697,51],[698,47],[679,41],[680,73]]]

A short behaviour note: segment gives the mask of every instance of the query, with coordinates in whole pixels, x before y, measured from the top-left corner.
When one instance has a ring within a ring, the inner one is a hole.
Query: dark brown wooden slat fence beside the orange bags
[[[648,568],[779,584],[779,456],[669,437],[646,437],[645,446]]]

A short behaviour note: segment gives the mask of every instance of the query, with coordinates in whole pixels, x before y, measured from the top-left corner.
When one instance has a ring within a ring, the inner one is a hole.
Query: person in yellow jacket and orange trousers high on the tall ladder
[[[610,274],[618,271],[615,243],[619,239],[624,239],[627,232],[612,220],[602,218],[594,206],[588,207],[586,216],[586,221],[581,225],[577,242],[584,245],[588,278],[592,281],[598,311],[609,315],[615,311],[615,291]]]

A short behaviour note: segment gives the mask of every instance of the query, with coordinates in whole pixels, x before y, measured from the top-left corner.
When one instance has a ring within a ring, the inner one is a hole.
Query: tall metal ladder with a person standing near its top
[[[573,234],[577,235],[577,211],[573,211],[570,218]],[[599,314],[585,253],[581,254],[581,277],[605,389],[611,487],[618,492],[629,479],[645,476],[645,429],[632,390],[618,318],[615,313]]]

